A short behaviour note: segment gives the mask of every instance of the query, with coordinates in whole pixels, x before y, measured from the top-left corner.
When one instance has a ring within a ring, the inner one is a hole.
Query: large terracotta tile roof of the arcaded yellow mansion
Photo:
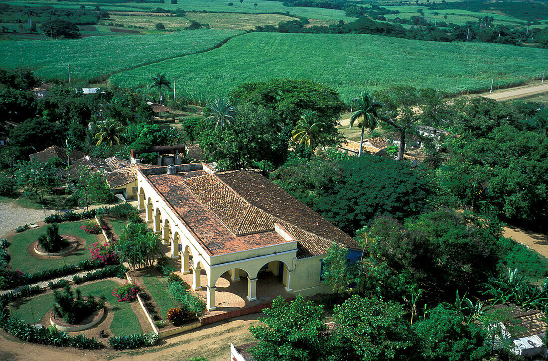
[[[212,255],[291,242],[274,231],[275,223],[297,240],[298,258],[326,254],[332,242],[359,248],[346,233],[259,174],[143,174]]]

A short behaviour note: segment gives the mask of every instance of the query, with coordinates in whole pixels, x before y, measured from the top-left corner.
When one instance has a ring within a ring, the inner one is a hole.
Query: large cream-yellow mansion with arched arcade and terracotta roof
[[[221,276],[247,282],[247,302],[271,289],[258,283],[265,273],[290,295],[330,293],[321,280],[329,247],[361,255],[346,233],[252,171],[194,163],[137,169],[137,180],[139,208],[180,257],[181,272],[192,274],[192,288],[206,287],[209,311]]]

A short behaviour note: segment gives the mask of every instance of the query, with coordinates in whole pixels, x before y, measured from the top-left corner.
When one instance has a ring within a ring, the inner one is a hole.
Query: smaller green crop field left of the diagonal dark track
[[[164,35],[101,36],[76,40],[0,42],[0,67],[28,66],[39,77],[96,81],[107,76],[176,56],[215,47],[242,32],[193,30]]]

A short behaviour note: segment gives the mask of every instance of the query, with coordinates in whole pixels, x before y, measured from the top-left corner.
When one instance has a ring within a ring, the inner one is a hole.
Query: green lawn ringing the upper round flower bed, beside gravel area
[[[80,226],[87,222],[85,220],[59,224],[60,234],[73,234],[74,236],[82,237],[85,239],[85,248],[57,260],[39,260],[27,253],[28,245],[35,242],[41,234],[45,234],[45,227],[47,225],[16,234],[11,240],[12,245],[8,248],[8,253],[12,256],[12,260],[10,261],[12,268],[14,270],[19,268],[23,272],[33,273],[47,270],[48,268],[61,267],[65,264],[76,264],[80,260],[89,259],[87,248],[90,244],[97,242],[97,238],[95,234],[87,234],[80,229]]]

